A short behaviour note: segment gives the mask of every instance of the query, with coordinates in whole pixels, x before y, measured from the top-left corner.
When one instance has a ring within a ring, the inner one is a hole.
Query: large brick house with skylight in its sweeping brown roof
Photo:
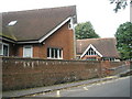
[[[76,7],[3,12],[0,55],[75,58]]]

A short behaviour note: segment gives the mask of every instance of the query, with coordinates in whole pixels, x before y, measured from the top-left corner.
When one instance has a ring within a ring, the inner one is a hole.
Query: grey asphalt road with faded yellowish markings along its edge
[[[122,77],[32,97],[130,97],[130,77]]]

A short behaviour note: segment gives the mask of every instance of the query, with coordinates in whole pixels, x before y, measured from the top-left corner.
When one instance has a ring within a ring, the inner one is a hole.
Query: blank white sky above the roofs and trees
[[[77,7],[78,23],[90,21],[101,37],[114,37],[120,24],[130,21],[130,6],[114,13],[109,0],[2,0],[0,12],[44,9],[65,6]]]

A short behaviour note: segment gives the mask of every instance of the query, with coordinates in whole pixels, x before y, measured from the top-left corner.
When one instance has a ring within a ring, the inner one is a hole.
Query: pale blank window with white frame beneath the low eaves
[[[31,45],[23,46],[23,57],[32,57],[33,56],[33,47]]]

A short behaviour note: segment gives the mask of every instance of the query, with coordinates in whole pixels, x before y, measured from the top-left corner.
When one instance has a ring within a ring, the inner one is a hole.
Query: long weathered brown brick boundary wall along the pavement
[[[1,58],[3,90],[51,86],[89,79],[99,77],[101,74],[101,66],[105,66],[105,64],[110,64],[111,67],[123,64],[88,61]]]

